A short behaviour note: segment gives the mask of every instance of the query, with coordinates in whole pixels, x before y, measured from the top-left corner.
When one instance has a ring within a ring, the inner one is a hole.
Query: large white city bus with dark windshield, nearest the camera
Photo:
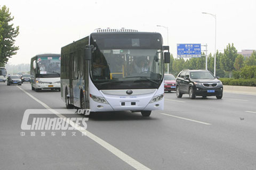
[[[61,98],[66,107],[142,116],[163,110],[164,63],[170,62],[170,53],[162,44],[156,32],[98,29],[62,47]]]

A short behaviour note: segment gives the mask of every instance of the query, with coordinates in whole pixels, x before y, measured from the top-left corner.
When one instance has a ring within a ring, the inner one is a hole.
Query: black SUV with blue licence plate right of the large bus
[[[176,95],[178,98],[188,94],[191,99],[196,96],[216,96],[221,99],[223,85],[218,79],[207,70],[182,70],[176,78]]]

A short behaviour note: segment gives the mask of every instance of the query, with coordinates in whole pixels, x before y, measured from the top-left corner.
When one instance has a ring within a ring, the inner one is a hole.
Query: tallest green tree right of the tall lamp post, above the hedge
[[[234,47],[234,44],[232,43],[232,46],[228,44],[227,48],[224,49],[223,56],[221,57],[220,66],[221,66],[221,69],[229,72],[229,78],[231,78],[232,71],[235,69],[234,63],[235,63],[236,57],[237,57],[237,50]]]

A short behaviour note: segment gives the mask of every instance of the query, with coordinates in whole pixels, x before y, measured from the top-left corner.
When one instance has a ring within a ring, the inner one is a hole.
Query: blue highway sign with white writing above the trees
[[[201,57],[201,44],[177,44],[178,57]]]

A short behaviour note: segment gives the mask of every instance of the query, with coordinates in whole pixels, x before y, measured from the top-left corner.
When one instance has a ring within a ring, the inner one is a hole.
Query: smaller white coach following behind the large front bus
[[[60,90],[60,54],[39,54],[31,58],[31,89]]]

